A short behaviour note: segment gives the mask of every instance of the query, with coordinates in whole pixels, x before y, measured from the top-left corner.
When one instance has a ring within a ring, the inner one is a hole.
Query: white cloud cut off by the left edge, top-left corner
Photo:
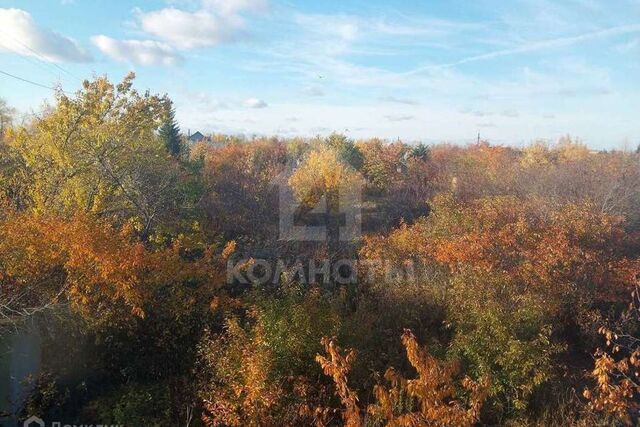
[[[0,51],[44,58],[50,62],[89,62],[92,60],[75,40],[40,27],[21,9],[0,9],[2,43]]]

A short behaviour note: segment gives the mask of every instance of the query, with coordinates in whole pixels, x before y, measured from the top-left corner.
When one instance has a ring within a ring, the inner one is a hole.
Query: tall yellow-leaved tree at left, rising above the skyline
[[[148,236],[180,204],[177,167],[156,135],[169,101],[138,93],[133,79],[58,92],[50,112],[10,133],[32,179],[34,211],[131,221]]]

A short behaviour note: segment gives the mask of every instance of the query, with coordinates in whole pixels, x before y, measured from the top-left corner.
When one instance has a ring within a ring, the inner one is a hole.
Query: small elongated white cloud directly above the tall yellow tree
[[[120,62],[140,65],[176,65],[180,54],[165,43],[154,40],[116,40],[99,35],[91,41],[105,55]]]

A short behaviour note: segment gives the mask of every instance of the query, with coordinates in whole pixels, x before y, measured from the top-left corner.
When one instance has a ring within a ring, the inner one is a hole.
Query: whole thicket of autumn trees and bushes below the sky
[[[86,82],[0,140],[0,311],[12,327],[37,322],[44,341],[23,415],[637,422],[639,154],[568,137],[188,146],[169,99],[132,82]],[[363,239],[278,239],[274,180],[291,165],[308,218],[363,183]],[[228,279],[228,263],[252,258],[359,268],[348,284],[293,267],[276,283]]]

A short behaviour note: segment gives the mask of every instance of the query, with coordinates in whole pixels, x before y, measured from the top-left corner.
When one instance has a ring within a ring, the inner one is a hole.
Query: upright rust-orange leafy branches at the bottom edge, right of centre
[[[406,379],[395,369],[387,369],[385,379],[391,387],[377,385],[376,401],[366,408],[360,408],[358,395],[348,384],[347,374],[356,358],[355,351],[343,351],[335,339],[324,338],[322,344],[326,356],[318,355],[316,360],[333,379],[344,407],[345,426],[471,426],[479,420],[489,379],[474,382],[468,377],[459,378],[457,362],[437,360],[418,344],[409,330],[402,335],[402,344],[417,377]],[[462,391],[466,392],[465,400],[459,400]]]

